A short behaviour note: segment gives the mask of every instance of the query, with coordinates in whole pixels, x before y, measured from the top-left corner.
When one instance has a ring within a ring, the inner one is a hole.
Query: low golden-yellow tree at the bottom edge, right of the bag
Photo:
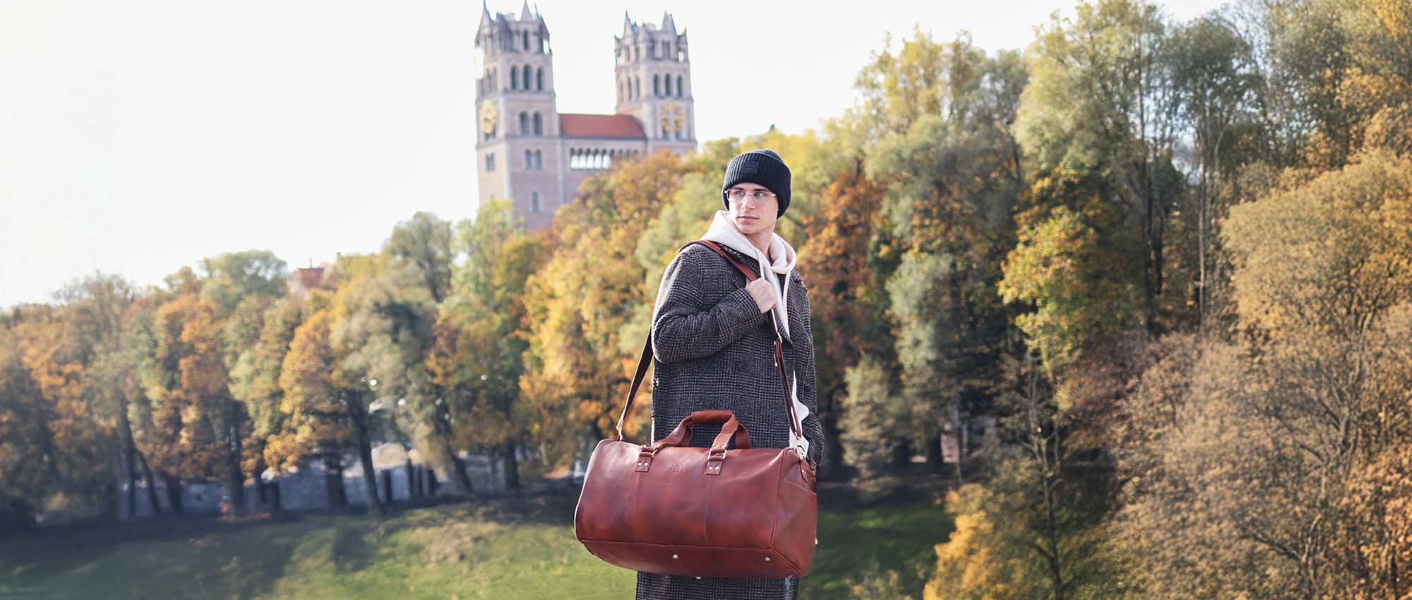
[[[1005,359],[997,394],[1005,412],[983,449],[991,477],[947,494],[956,531],[936,546],[925,597],[1115,597],[1114,560],[1100,545],[1108,481],[1076,460],[1067,416],[1032,356]]]

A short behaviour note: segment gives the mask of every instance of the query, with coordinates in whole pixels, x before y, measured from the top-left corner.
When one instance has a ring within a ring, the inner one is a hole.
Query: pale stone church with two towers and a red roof
[[[514,199],[527,227],[549,223],[589,175],[616,161],[666,148],[696,150],[692,69],[686,32],[671,14],[662,24],[623,16],[614,35],[614,114],[561,113],[555,107],[549,28],[528,1],[518,18],[481,4],[476,88],[479,203]],[[479,206],[479,205],[477,205]]]

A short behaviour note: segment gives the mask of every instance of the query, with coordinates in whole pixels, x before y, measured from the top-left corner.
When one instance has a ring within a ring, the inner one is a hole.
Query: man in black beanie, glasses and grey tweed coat
[[[795,271],[795,250],[775,234],[789,208],[789,167],[770,150],[730,161],[722,202],[703,240],[751,267],[746,275],[712,248],[692,244],[662,274],[652,311],[652,439],[666,436],[686,415],[709,408],[736,412],[755,448],[799,448],[819,464],[823,428],[815,400],[809,291]],[[770,313],[774,312],[771,325]],[[792,439],[775,336],[784,340],[795,415],[805,439]],[[720,424],[698,425],[692,445],[709,448]],[[720,579],[638,573],[638,600],[788,600],[798,580]]]

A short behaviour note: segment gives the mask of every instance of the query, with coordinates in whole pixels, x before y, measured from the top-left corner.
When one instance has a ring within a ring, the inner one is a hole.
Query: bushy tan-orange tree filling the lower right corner
[[[1399,589],[1409,191],[1371,152],[1231,209],[1238,335],[1163,339],[1121,402],[1113,544],[1147,597]]]

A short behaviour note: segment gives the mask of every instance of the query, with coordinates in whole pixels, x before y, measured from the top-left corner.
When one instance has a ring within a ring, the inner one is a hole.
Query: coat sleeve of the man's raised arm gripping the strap
[[[712,295],[709,287],[733,278],[724,268],[702,264],[706,263],[702,253],[710,250],[693,250],[695,246],[672,258],[657,291],[652,353],[662,363],[712,356],[767,319],[746,288],[737,288],[712,304],[707,299]]]

